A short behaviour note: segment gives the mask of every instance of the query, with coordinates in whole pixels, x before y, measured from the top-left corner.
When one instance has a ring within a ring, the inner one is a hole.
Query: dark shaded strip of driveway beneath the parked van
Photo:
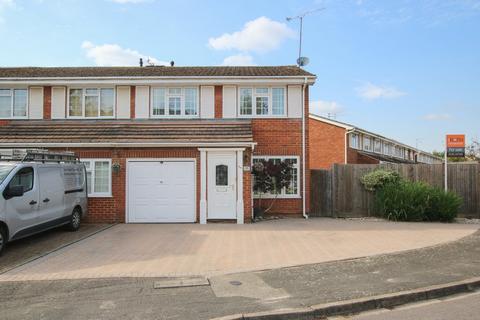
[[[11,242],[0,257],[0,274],[89,237],[109,226],[111,225],[82,224],[75,232],[60,227]]]

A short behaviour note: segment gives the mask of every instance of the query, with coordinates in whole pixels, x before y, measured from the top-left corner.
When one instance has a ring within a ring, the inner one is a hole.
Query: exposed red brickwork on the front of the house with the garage
[[[214,87],[214,106],[215,118],[223,116],[223,86]],[[135,86],[130,87],[130,118],[135,118]],[[51,87],[44,87],[44,119],[51,119]],[[305,115],[308,115],[308,86],[305,88]],[[0,124],[8,121],[0,121]],[[309,135],[310,123],[305,119],[305,164],[306,164],[306,212],[309,211],[310,195],[310,164],[309,154]],[[257,143],[254,156],[297,156],[298,175],[300,177],[298,189],[299,196],[296,198],[277,199],[273,206],[272,214],[290,214],[301,215],[303,208],[302,201],[302,118],[268,118],[252,119],[253,140]],[[62,148],[62,150],[65,150]],[[80,158],[84,159],[111,159],[112,164],[119,164],[118,172],[112,171],[112,196],[111,197],[91,197],[89,198],[88,222],[92,223],[114,223],[126,222],[126,169],[127,159],[130,158],[194,158],[196,159],[196,216],[197,222],[200,221],[200,151],[196,147],[191,148],[69,148],[68,151],[74,151]],[[313,152],[315,154],[315,151]],[[251,149],[245,151],[244,165],[251,163]],[[252,217],[252,174],[248,171],[243,172],[243,201],[244,201],[244,221],[251,221]],[[208,195],[207,195],[208,198]]]

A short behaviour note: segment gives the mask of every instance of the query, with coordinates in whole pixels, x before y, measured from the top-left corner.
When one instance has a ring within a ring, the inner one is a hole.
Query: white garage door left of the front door
[[[128,222],[195,222],[194,161],[129,161]]]

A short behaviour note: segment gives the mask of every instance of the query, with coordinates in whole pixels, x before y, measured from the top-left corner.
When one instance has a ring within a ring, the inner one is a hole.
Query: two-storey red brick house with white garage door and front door
[[[272,212],[305,215],[315,79],[295,66],[0,68],[0,148],[75,151],[90,222],[249,222],[260,158],[294,164]]]

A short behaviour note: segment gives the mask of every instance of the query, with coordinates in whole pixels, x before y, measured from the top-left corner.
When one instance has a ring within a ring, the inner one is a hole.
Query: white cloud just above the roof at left
[[[93,60],[97,66],[138,66],[140,58],[143,58],[145,64],[147,60],[150,60],[155,65],[169,65],[166,61],[158,60],[136,50],[122,48],[118,44],[95,45],[90,41],[84,41],[82,49],[85,50],[87,58]]]

